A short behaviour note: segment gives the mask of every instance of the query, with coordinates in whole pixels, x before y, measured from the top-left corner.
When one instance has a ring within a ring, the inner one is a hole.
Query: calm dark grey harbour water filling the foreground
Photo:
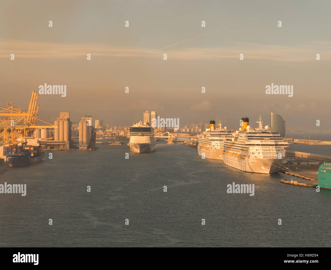
[[[128,150],[101,145],[53,152],[52,160],[46,152],[39,164],[0,174],[2,184],[27,185],[25,197],[0,194],[0,246],[330,246],[331,190],[285,185],[280,173],[245,173],[178,144]],[[254,184],[255,195],[228,194],[232,182]]]

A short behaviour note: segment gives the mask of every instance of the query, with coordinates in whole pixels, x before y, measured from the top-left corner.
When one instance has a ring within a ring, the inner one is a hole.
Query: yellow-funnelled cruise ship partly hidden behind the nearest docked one
[[[215,129],[215,121],[211,120],[210,128],[198,136],[199,155],[205,154],[205,157],[210,159],[223,159],[224,140],[232,132],[234,131],[227,130],[226,127],[222,128],[221,121]]]

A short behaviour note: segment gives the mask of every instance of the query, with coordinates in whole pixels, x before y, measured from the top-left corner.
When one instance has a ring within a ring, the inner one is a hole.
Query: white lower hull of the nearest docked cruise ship
[[[223,154],[223,162],[225,165],[236,168],[244,172],[251,173],[276,173],[281,166],[281,159],[276,158],[238,158]]]

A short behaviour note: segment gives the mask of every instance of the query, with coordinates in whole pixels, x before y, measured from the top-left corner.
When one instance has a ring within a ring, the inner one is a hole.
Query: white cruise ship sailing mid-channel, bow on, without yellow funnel
[[[142,121],[140,121],[130,126],[128,135],[130,136],[130,141],[127,145],[130,146],[132,152],[143,153],[154,150],[156,138],[154,138],[154,128],[149,125],[142,124]]]

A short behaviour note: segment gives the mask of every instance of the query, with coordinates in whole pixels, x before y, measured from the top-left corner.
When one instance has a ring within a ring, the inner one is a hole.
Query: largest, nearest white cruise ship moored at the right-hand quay
[[[225,165],[252,173],[275,173],[281,167],[288,143],[269,126],[263,128],[260,116],[258,128],[251,129],[249,118],[243,117],[240,130],[226,137],[223,162]]]

